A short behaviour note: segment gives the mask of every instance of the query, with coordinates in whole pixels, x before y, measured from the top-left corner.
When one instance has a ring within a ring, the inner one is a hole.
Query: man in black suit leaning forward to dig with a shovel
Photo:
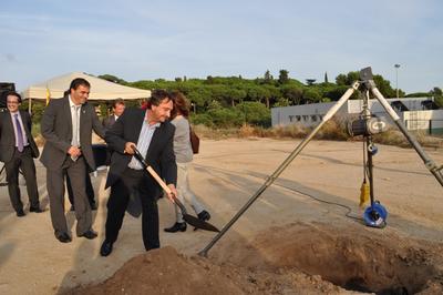
[[[111,195],[107,201],[105,240],[100,250],[102,256],[112,252],[131,194],[133,197],[140,197],[142,204],[142,233],[146,251],[159,247],[157,200],[162,190],[133,156],[133,148],[136,146],[176,194],[177,166],[173,150],[175,128],[167,121],[172,109],[173,101],[168,93],[162,90],[154,91],[147,110],[125,110],[106,132],[106,143],[114,152],[106,180],[106,187],[111,186]],[[172,200],[172,195],[168,197]]]

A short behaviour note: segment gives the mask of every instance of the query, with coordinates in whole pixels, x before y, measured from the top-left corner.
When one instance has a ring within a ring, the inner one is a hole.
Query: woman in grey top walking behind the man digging
[[[171,94],[174,101],[174,109],[171,114],[172,123],[175,125],[174,153],[177,162],[177,192],[178,200],[184,203],[184,199],[190,202],[190,206],[202,221],[210,218],[209,212],[197,201],[189,187],[188,171],[193,161],[193,150],[189,140],[189,102],[181,92]],[[177,205],[175,205],[176,222],[173,226],[164,228],[165,232],[176,233],[186,231],[186,222]]]

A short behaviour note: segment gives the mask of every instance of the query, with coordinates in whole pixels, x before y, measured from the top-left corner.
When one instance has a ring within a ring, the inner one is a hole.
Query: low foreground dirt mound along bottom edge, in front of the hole
[[[130,260],[101,284],[76,287],[66,294],[284,294],[313,289],[340,293],[339,287],[319,276],[250,272],[229,263],[216,265],[203,257],[186,257],[173,247],[164,247]]]

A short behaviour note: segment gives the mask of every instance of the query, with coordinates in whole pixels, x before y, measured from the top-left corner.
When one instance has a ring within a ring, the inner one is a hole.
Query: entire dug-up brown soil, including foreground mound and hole
[[[173,247],[151,251],[107,281],[68,293],[443,293],[439,243],[305,223],[272,227],[244,243],[223,243],[209,258],[187,257]]]

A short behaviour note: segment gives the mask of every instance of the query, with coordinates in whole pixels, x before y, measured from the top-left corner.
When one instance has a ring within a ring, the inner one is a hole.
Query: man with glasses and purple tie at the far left
[[[17,216],[24,216],[23,203],[20,197],[19,169],[27,181],[30,212],[41,213],[39,191],[37,189],[35,164],[33,157],[40,152],[31,134],[31,116],[19,110],[21,96],[19,93],[7,93],[8,111],[0,113],[0,161],[4,162],[8,191]]]

